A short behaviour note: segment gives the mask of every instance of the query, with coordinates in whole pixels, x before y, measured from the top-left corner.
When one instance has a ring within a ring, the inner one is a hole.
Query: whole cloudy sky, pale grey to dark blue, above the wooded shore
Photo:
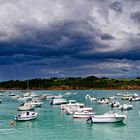
[[[0,81],[140,76],[140,0],[0,0]]]

